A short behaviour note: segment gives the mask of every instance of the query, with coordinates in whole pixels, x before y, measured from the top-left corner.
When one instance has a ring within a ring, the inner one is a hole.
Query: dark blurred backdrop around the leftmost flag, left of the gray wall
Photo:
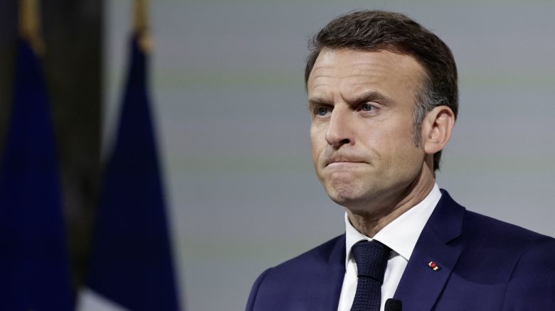
[[[15,95],[20,18],[19,1],[0,2],[0,151],[4,151]],[[95,0],[40,1],[37,9],[38,18],[31,19],[37,20],[45,43],[41,65],[56,133],[62,208],[77,288],[85,271],[101,168],[104,13],[102,1]]]

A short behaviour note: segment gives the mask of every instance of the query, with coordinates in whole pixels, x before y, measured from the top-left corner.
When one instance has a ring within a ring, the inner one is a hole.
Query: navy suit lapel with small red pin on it
[[[428,219],[393,298],[407,310],[432,310],[462,248],[449,242],[460,236],[465,208],[442,190],[442,197]],[[428,264],[434,262],[438,270]]]

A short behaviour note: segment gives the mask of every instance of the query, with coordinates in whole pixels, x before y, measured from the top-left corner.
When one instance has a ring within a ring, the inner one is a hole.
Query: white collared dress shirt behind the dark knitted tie
[[[392,250],[391,256],[387,261],[384,284],[381,285],[381,311],[384,311],[386,300],[393,298],[393,294],[401,280],[401,275],[405,271],[408,259],[411,258],[416,241],[418,241],[418,236],[420,236],[422,229],[424,229],[426,222],[428,222],[428,218],[430,218],[440,197],[441,192],[438,185],[435,184],[424,200],[401,214],[401,216],[397,217],[374,236],[376,241],[380,241]],[[358,277],[356,262],[351,255],[351,247],[359,241],[372,241],[368,236],[354,229],[351,222],[349,222],[347,212],[345,213],[345,234],[347,244],[347,256],[345,256],[346,271],[343,278],[339,306],[337,307],[338,311],[351,310],[354,294],[356,293]]]

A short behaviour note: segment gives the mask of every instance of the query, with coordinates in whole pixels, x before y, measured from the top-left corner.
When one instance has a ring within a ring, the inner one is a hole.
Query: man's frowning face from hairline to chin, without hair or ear
[[[414,58],[324,48],[307,83],[314,169],[329,197],[375,212],[415,182],[425,153],[413,138],[423,68]]]

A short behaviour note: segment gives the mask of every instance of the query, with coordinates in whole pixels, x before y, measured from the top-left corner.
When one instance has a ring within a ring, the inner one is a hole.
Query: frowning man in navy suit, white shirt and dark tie
[[[555,239],[435,184],[458,111],[442,40],[349,13],[314,37],[305,82],[314,170],[346,233],[262,273],[247,310],[555,310]]]

